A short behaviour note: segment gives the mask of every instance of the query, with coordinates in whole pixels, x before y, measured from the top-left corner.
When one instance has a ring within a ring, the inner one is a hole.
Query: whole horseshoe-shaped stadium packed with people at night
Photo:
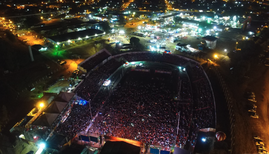
[[[193,151],[197,134],[216,126],[210,81],[200,63],[175,54],[106,49],[78,65],[86,75],[54,134],[70,141],[125,141]],[[71,91],[70,91],[71,92]]]

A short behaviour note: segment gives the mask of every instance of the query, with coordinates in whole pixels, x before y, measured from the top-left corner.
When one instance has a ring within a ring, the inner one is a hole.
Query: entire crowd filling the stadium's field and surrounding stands
[[[124,57],[129,62],[148,60],[177,66],[188,63],[188,60],[171,54],[153,52],[127,54]],[[130,72],[109,97],[111,91],[101,88],[102,84],[122,63],[109,60],[91,72],[76,88],[79,97],[91,102],[93,117],[106,104],[104,118],[96,125],[100,134],[167,148],[173,146],[176,140],[176,145],[180,147],[187,142],[194,145],[197,131],[214,124],[213,93],[200,66],[186,67],[189,76],[181,72],[180,78],[176,73],[150,75]],[[174,99],[178,93],[171,87],[176,87],[178,91],[180,89],[178,100]],[[181,103],[179,100],[189,101]],[[56,132],[74,136],[77,132],[85,131],[91,120],[89,103],[75,104]]]

